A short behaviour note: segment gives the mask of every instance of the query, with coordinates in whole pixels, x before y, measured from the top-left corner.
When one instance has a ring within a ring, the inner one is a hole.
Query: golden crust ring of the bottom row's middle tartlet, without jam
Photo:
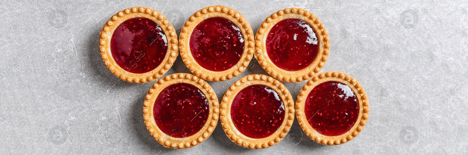
[[[234,125],[231,119],[231,105],[235,96],[244,88],[250,85],[261,84],[270,87],[275,90],[283,101],[285,106],[285,120],[281,126],[272,135],[265,138],[250,138],[242,134]],[[227,137],[234,143],[244,148],[260,149],[269,148],[276,143],[283,140],[283,138],[289,132],[294,121],[294,101],[289,93],[288,89],[278,80],[266,75],[251,74],[242,77],[235,81],[224,94],[223,100],[221,101],[221,108],[219,117],[221,119],[221,125],[226,133]]]

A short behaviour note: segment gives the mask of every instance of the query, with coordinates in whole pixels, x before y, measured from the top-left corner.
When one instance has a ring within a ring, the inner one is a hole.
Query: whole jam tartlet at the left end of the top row
[[[178,54],[174,27],[161,13],[131,7],[114,14],[102,27],[101,58],[119,79],[146,83],[160,78]]]

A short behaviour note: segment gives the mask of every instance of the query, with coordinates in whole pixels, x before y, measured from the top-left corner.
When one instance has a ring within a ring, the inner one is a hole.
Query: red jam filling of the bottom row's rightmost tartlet
[[[326,81],[310,91],[304,111],[309,124],[320,134],[343,135],[356,123],[359,103],[349,86]]]

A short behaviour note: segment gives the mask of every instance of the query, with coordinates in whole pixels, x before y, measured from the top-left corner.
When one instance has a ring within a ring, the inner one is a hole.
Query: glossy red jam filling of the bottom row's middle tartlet
[[[265,138],[283,123],[285,107],[275,90],[264,85],[251,85],[235,96],[231,118],[242,134]]]

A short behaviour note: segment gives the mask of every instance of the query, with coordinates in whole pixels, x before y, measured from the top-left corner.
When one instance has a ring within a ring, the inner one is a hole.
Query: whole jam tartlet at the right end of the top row
[[[274,78],[300,82],[317,74],[329,54],[329,36],[314,14],[286,8],[271,14],[257,30],[255,58]]]

